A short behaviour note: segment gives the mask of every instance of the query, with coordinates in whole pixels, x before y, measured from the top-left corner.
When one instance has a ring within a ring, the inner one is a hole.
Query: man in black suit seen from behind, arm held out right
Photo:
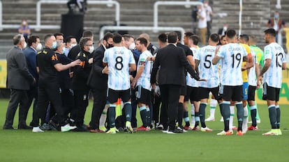
[[[177,47],[177,33],[168,33],[168,46],[158,50],[156,60],[151,72],[151,86],[156,85],[156,72],[158,67],[161,70],[158,74],[158,85],[161,89],[162,103],[168,105],[168,122],[169,130],[166,133],[181,133],[175,128],[177,120],[177,109],[179,101],[179,90],[185,86],[184,68],[193,76],[194,79],[200,80],[193,67],[186,60],[184,49]]]

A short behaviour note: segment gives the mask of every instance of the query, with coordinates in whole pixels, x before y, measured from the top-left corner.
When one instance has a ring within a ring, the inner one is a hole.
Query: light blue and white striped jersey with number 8
[[[108,88],[112,90],[128,90],[131,88],[129,65],[135,64],[133,53],[126,47],[106,49],[103,63],[108,63]]]

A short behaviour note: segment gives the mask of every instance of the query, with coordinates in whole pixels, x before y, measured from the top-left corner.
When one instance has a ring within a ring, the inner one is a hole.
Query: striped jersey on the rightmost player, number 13
[[[271,60],[271,65],[264,74],[263,80],[268,86],[281,88],[282,84],[282,63],[286,63],[284,49],[276,42],[272,42],[264,47],[265,62]]]

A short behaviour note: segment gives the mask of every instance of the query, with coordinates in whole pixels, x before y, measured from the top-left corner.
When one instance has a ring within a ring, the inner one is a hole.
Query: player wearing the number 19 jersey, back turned
[[[237,44],[237,33],[235,30],[228,30],[226,35],[228,44],[216,49],[212,63],[216,65],[220,60],[221,64],[221,87],[220,95],[223,99],[223,118],[225,129],[217,135],[231,135],[229,130],[230,101],[237,106],[238,129],[237,135],[242,136],[242,123],[244,108],[242,105],[242,62],[248,60],[247,53],[240,44]]]

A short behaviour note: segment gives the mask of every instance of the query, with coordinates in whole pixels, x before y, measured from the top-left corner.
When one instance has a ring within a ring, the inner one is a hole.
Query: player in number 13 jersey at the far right
[[[278,136],[282,135],[278,101],[282,84],[282,70],[286,70],[286,55],[284,49],[275,41],[276,31],[274,29],[267,29],[264,33],[264,39],[268,45],[264,47],[265,65],[258,76],[258,81],[264,81],[263,99],[267,100],[272,129],[262,135]]]

